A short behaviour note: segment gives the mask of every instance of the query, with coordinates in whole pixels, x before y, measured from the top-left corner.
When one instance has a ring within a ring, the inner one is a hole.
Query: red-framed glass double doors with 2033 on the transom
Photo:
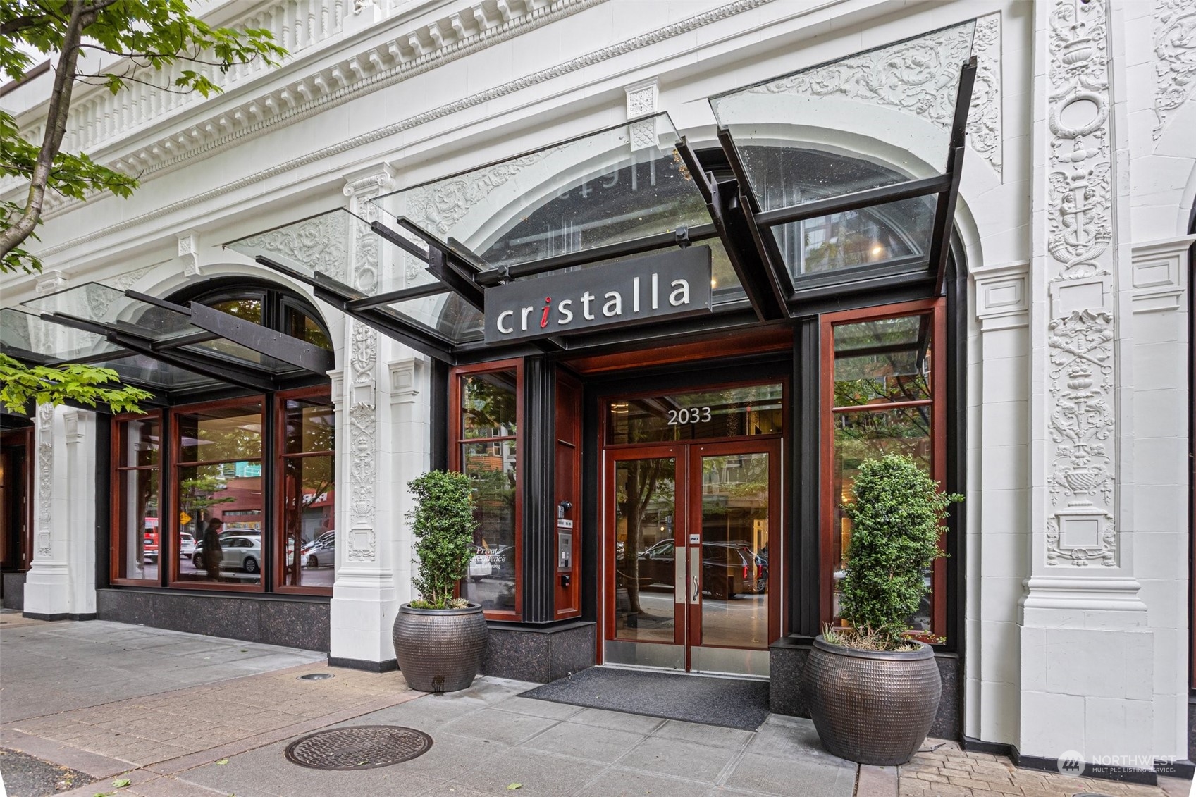
[[[608,406],[605,663],[768,675],[780,628],[782,415],[780,385],[768,388]],[[683,433],[738,439],[618,442]]]

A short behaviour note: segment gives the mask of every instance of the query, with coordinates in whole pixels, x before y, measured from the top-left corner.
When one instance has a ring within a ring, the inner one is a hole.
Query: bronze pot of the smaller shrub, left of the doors
[[[398,607],[395,658],[407,683],[417,692],[466,689],[482,667],[486,652],[486,616],[482,607],[413,609]]]

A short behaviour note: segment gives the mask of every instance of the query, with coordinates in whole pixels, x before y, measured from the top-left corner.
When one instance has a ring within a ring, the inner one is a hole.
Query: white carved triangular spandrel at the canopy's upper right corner
[[[972,53],[975,22],[861,53],[751,89],[755,93],[843,95],[896,108],[948,130],[959,69]]]

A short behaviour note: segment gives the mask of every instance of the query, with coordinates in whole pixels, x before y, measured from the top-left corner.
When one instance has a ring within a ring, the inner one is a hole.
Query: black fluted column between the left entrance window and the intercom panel
[[[523,619],[554,619],[556,578],[556,364],[524,360],[523,451]]]

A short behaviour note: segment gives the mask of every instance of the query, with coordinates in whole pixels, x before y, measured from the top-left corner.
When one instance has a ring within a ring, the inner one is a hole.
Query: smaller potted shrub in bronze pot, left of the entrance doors
[[[486,651],[482,607],[458,598],[457,583],[472,559],[474,500],[469,476],[432,470],[408,487],[415,509],[408,513],[415,534],[420,600],[398,607],[395,658],[413,689],[456,692],[474,682]]]

